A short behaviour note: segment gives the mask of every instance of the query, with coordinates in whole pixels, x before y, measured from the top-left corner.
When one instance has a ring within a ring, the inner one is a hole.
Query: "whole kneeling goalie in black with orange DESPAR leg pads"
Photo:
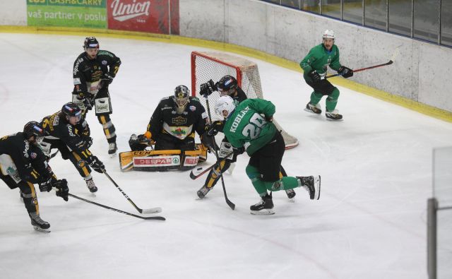
[[[120,154],[121,170],[162,171],[189,170],[198,159],[206,158],[206,151],[195,144],[195,133],[202,138],[206,131],[207,113],[196,97],[190,96],[185,85],[174,89],[174,95],[164,97],[155,108],[146,132],[129,140],[131,157]],[[145,150],[154,146],[154,151]],[[137,159],[138,158],[138,159]],[[140,159],[141,158],[141,159]]]

